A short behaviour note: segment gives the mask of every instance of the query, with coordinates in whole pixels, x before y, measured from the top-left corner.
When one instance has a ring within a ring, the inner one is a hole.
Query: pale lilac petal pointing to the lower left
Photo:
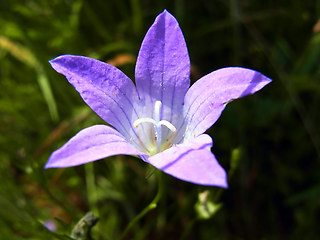
[[[72,167],[119,154],[145,155],[115,129],[95,125],[81,130],[53,152],[45,168]]]

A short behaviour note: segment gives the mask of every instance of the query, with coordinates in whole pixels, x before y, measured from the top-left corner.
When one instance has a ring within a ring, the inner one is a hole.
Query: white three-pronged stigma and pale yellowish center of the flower
[[[153,118],[139,118],[133,123],[134,128],[138,128],[142,123],[151,124],[150,137],[144,137],[141,139],[137,133],[141,147],[150,156],[164,151],[165,149],[172,146],[172,139],[176,135],[177,129],[167,120],[161,120],[161,101],[156,101],[154,104],[154,119]],[[163,134],[162,127],[167,127],[170,132],[169,134]],[[163,136],[164,135],[164,136]]]

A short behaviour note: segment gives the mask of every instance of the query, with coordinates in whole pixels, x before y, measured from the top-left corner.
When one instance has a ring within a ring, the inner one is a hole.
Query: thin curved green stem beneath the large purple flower
[[[136,215],[127,225],[126,229],[121,234],[119,240],[122,240],[126,234],[129,232],[129,230],[142,218],[144,217],[148,212],[150,212],[152,209],[156,208],[158,205],[158,202],[163,194],[163,181],[162,181],[162,173],[160,171],[155,171],[155,174],[158,178],[158,192],[151,203],[149,203],[148,206],[146,206],[138,215]]]

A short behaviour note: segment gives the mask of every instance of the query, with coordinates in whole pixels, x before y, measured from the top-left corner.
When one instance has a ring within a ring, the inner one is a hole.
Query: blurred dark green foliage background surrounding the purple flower
[[[133,79],[145,32],[165,8],[184,32],[193,81],[234,65],[274,81],[229,104],[209,131],[229,189],[164,175],[157,208],[125,239],[320,235],[319,1],[1,0],[0,240],[70,239],[89,210],[100,218],[92,238],[117,239],[152,201],[156,178],[133,157],[43,169],[77,131],[102,123],[48,60],[90,56]]]

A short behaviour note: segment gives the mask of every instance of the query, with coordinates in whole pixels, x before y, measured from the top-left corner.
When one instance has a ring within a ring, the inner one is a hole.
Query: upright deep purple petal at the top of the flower
[[[144,117],[154,118],[155,101],[161,101],[161,119],[176,125],[189,77],[186,42],[177,20],[165,10],[148,30],[137,59],[135,78]]]

